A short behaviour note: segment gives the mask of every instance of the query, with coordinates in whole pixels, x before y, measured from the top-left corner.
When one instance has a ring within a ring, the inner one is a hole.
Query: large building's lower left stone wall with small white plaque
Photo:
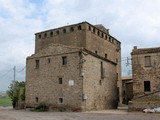
[[[79,52],[70,49],[53,47],[51,51],[58,50],[57,54],[49,54],[43,50],[39,55],[33,55],[27,59],[26,74],[26,106],[35,107],[38,104],[46,104],[52,108],[65,107],[79,108],[82,101],[82,83],[79,77]],[[64,52],[65,50],[65,52]],[[60,54],[61,52],[61,54]],[[62,57],[67,57],[67,64],[62,65]],[[39,68],[35,68],[35,60],[39,60]],[[48,62],[50,59],[50,62]],[[62,78],[62,84],[59,84]],[[74,85],[69,85],[69,80]],[[63,102],[60,103],[59,99]]]

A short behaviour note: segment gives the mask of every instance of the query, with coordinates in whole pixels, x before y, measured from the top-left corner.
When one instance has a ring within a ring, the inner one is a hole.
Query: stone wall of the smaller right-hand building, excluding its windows
[[[145,56],[151,57],[151,66],[145,66]],[[159,91],[160,51],[151,53],[150,49],[134,49],[132,52],[132,73],[134,97],[145,94],[144,81],[150,81],[151,93]]]

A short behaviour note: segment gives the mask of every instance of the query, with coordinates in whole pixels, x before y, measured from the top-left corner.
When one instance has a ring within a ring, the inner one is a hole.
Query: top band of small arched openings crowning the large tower
[[[38,32],[35,34],[35,38],[36,40],[45,40],[45,39],[51,39],[57,36],[63,36],[66,34],[73,35],[71,33],[77,33],[80,31],[90,32],[104,40],[109,41],[110,43],[120,48],[121,43],[116,38],[114,38],[109,34],[109,29],[106,29],[105,27],[103,27],[103,25],[94,26],[88,22],[82,22],[78,24],[67,25],[67,26],[63,26],[63,27],[59,27],[51,30]]]

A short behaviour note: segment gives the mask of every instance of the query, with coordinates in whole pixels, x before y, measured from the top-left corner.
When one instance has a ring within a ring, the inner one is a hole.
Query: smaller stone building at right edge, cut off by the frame
[[[143,109],[160,105],[160,48],[132,50],[133,105]]]

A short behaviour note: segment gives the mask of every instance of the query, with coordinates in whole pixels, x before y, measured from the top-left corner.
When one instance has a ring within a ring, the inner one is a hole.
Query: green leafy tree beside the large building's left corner
[[[18,81],[13,81],[10,86],[8,87],[9,90],[7,91],[8,96],[12,100],[12,105],[13,108],[16,107],[18,100],[25,100],[25,91],[20,95],[20,88],[25,87],[25,82],[18,82]]]

